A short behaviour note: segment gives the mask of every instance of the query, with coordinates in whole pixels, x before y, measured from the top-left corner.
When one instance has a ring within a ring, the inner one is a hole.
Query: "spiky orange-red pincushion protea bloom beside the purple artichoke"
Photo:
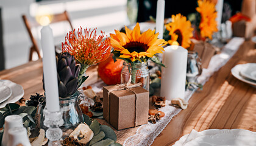
[[[77,61],[83,66],[88,66],[104,61],[108,58],[111,51],[110,39],[106,38],[102,41],[105,32],[101,31],[101,35],[97,38],[96,29],[84,29],[82,27],[77,30],[77,36],[74,31],[70,31],[65,38],[65,43],[62,43],[62,52],[69,52],[74,55]]]

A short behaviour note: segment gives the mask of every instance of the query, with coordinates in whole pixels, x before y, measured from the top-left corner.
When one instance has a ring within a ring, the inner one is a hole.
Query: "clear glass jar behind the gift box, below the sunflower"
[[[132,75],[135,74],[135,77]],[[142,83],[141,87],[149,91],[149,69],[148,62],[130,63],[124,61],[124,67],[121,71],[121,83],[127,83],[132,75],[132,83]]]

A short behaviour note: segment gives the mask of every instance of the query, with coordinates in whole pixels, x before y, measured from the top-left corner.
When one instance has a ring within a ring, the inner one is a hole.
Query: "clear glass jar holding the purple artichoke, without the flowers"
[[[61,98],[60,108],[63,111],[64,124],[60,129],[63,131],[62,137],[68,137],[69,134],[79,125],[84,122],[82,110],[79,106],[80,92],[76,91],[72,96]]]

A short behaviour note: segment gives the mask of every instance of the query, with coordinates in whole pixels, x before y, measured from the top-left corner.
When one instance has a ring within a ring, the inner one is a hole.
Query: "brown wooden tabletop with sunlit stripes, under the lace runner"
[[[256,88],[237,80],[230,73],[236,64],[256,63],[255,44],[246,41],[229,62],[210,78],[204,89],[189,100],[181,111],[155,139],[153,145],[172,145],[192,129],[241,128],[256,131]],[[97,80],[97,67],[88,69],[87,83]],[[24,99],[43,93],[41,60],[0,72],[0,79],[8,79],[24,88]]]

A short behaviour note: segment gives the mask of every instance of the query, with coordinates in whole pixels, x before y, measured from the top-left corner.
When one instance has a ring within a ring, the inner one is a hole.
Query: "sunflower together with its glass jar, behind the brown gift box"
[[[163,46],[167,42],[158,39],[155,30],[140,32],[140,24],[137,23],[133,30],[125,26],[126,33],[115,30],[110,34],[110,41],[113,46],[113,59],[124,60],[124,67],[121,72],[121,83],[127,83],[131,77],[131,83],[142,83],[144,89],[149,90],[148,60],[164,66],[155,54],[163,53]]]

